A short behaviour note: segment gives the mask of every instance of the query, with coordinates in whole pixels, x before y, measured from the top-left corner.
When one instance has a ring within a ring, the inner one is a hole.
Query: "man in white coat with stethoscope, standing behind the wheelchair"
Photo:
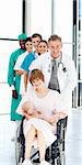
[[[72,90],[77,86],[74,62],[61,52],[62,41],[60,36],[51,35],[48,40],[48,46],[49,52],[35,59],[30,66],[30,70],[40,69],[45,76],[46,87],[60,92],[70,110]]]

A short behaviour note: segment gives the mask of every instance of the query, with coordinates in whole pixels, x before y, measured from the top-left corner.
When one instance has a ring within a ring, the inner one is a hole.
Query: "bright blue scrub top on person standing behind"
[[[28,53],[27,56],[24,58],[21,68],[26,70],[27,73],[30,72],[28,67],[32,64],[32,62],[35,59],[34,53]]]

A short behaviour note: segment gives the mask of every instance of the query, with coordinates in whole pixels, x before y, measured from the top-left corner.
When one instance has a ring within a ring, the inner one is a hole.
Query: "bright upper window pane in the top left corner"
[[[0,37],[16,37],[22,32],[22,0],[0,0]]]

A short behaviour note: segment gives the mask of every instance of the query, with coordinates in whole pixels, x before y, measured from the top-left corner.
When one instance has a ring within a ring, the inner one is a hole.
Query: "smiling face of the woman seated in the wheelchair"
[[[32,82],[33,84],[33,87],[35,90],[40,90],[44,88],[44,81],[42,79],[34,79],[34,81]]]

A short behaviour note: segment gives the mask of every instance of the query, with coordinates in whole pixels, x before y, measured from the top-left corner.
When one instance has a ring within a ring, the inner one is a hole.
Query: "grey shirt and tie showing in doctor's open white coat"
[[[60,92],[58,75],[57,75],[57,73],[58,73],[57,62],[55,59],[52,59],[51,64],[52,64],[51,65],[51,77],[50,77],[48,88]]]

